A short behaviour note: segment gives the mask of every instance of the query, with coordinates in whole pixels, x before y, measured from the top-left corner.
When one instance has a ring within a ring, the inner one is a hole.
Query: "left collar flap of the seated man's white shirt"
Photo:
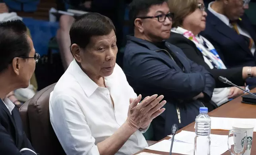
[[[85,72],[83,72],[75,59],[70,63],[67,71],[76,78],[88,97],[91,96],[99,87],[92,79],[90,79],[89,76],[87,76],[87,74],[85,74]]]

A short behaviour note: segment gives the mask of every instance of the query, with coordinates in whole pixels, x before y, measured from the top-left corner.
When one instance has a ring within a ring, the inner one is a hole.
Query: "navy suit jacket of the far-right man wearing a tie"
[[[241,66],[256,66],[256,59],[252,55],[246,41],[235,30],[225,25],[218,17],[207,11],[206,29],[200,34],[209,40],[214,46],[221,49],[228,68]],[[250,33],[256,43],[256,32],[246,15],[241,17],[242,21],[238,24]]]

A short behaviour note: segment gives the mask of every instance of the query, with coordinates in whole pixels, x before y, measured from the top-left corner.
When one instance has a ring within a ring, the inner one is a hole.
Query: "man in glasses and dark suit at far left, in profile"
[[[29,86],[39,55],[22,21],[0,23],[0,154],[37,155],[23,131],[14,104],[5,98]]]

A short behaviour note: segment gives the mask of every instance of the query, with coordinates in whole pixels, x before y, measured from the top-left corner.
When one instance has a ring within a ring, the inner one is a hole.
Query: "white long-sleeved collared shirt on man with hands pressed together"
[[[99,155],[97,144],[126,121],[129,98],[137,95],[117,64],[105,85],[99,87],[73,60],[50,94],[50,122],[67,155]],[[145,147],[137,130],[116,155],[132,155]]]

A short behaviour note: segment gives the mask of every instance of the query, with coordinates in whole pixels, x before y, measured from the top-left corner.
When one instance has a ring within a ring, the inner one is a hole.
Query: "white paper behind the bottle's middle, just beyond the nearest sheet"
[[[180,133],[175,135],[175,140],[194,144],[195,136],[196,136],[195,132],[182,130]],[[227,135],[210,134],[210,137],[211,137],[211,146],[228,148],[228,145],[227,145],[228,136]]]

